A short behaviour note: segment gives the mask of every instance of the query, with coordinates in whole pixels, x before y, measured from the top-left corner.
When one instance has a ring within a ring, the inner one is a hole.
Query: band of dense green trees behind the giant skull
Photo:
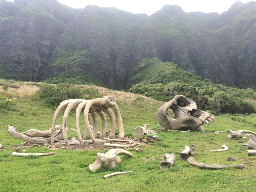
[[[211,110],[220,113],[250,114],[256,110],[252,104],[242,100],[244,97],[253,98],[256,92],[253,89],[238,89],[219,84],[185,84],[173,81],[169,84],[135,84],[130,92],[143,94],[157,100],[169,101],[175,95],[184,95],[194,100],[199,109]]]

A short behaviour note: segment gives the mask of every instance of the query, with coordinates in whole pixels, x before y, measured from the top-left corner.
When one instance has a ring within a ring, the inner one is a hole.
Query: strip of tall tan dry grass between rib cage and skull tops
[[[95,89],[96,91],[99,92],[100,95],[104,96],[110,96],[110,97],[114,97],[116,99],[116,102],[121,102],[121,103],[126,103],[128,105],[131,105],[132,102],[136,101],[136,100],[140,100],[142,102],[147,102],[148,104],[160,104],[162,103],[161,101],[155,100],[153,98],[150,97],[146,97],[143,95],[139,95],[139,94],[134,94],[134,93],[129,93],[129,92],[124,92],[124,91],[117,91],[117,90],[111,90],[111,89],[107,89],[104,87],[98,87],[98,86],[89,86],[89,85],[84,85],[83,88],[89,88],[92,87],[93,89]]]

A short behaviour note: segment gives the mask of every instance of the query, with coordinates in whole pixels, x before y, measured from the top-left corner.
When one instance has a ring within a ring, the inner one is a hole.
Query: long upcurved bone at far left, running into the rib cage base
[[[15,139],[20,139],[24,140],[30,143],[36,143],[36,144],[44,144],[44,143],[50,143],[52,142],[51,137],[48,138],[33,138],[33,137],[28,137],[26,135],[23,135],[22,133],[18,132],[14,127],[8,125],[7,130],[9,134],[15,138]],[[63,134],[62,134],[62,128],[57,130],[56,133],[53,135],[57,139],[61,139]]]

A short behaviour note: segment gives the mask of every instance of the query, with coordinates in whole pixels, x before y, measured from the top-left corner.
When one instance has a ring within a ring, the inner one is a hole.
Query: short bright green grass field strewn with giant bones
[[[90,96],[89,96],[90,97]],[[52,125],[53,108],[47,108],[40,100],[24,97],[16,100],[16,106],[9,111],[0,111],[0,143],[9,150],[0,150],[0,191],[256,191],[256,156],[248,157],[247,149],[242,146],[248,139],[227,139],[227,129],[246,129],[256,132],[256,127],[245,122],[232,121],[230,116],[216,116],[212,125],[205,125],[205,132],[163,132],[159,139],[147,146],[140,146],[144,151],[129,151],[135,158],[120,155],[122,162],[115,168],[103,168],[91,172],[89,164],[99,151],[95,150],[55,150],[58,153],[42,157],[13,157],[11,151],[24,142],[12,138],[7,132],[7,125],[14,126],[20,132],[36,128],[49,129]],[[156,111],[162,102],[149,103],[138,98],[131,104],[117,102],[123,117],[124,132],[133,136],[133,127],[148,124],[151,129],[161,130],[156,120]],[[24,111],[24,116],[20,116]],[[63,112],[57,124],[62,124]],[[256,117],[246,117],[255,122]],[[82,119],[82,116],[81,116]],[[100,119],[100,118],[99,118]],[[109,119],[107,117],[109,128]],[[99,122],[99,124],[101,124]],[[68,137],[76,136],[71,128],[75,128],[75,113],[68,116]],[[83,126],[83,121],[81,121]],[[215,135],[214,130],[224,131]],[[210,152],[220,149],[223,144],[229,148],[224,152]],[[185,145],[194,145],[196,161],[209,164],[245,164],[244,169],[204,170],[179,160],[179,153]],[[49,148],[27,148],[24,153],[41,153],[52,151]],[[101,152],[106,152],[105,149]],[[160,161],[164,153],[175,153],[176,162],[171,169],[162,171]],[[233,157],[235,162],[228,162]],[[132,171],[125,175],[103,179],[102,176],[117,172]]]

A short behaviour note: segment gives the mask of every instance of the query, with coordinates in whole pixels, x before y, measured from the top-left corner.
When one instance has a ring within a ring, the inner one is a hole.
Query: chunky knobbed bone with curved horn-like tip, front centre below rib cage
[[[116,167],[121,163],[121,158],[118,155],[126,155],[134,158],[134,156],[124,149],[111,149],[108,152],[97,153],[95,162],[89,165],[89,169],[95,172],[102,167]]]

